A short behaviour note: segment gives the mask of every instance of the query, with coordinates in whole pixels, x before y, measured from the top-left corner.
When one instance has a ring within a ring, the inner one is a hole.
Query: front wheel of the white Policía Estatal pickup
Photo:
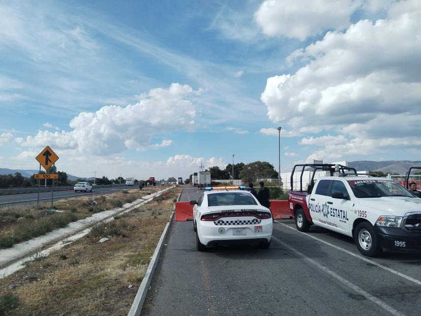
[[[369,222],[359,223],[354,233],[355,244],[362,254],[374,257],[382,252],[379,238]]]

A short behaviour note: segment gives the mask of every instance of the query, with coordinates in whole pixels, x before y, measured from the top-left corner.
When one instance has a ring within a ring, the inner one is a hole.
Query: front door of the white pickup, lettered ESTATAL
[[[343,197],[338,197],[341,194]],[[350,234],[349,209],[352,203],[350,196],[345,184],[341,180],[334,180],[330,197],[327,198],[329,221],[335,224],[336,229],[347,235]]]

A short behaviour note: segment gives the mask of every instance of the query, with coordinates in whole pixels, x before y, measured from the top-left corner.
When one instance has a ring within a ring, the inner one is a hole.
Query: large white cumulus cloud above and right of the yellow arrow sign
[[[145,150],[151,148],[154,134],[193,128],[193,99],[199,93],[189,85],[172,83],[168,89],[152,89],[134,105],[108,105],[96,112],[81,112],[70,121],[71,131],[39,131],[26,137],[23,145],[40,147],[48,143],[94,155]],[[169,146],[171,140],[155,145],[152,148]]]

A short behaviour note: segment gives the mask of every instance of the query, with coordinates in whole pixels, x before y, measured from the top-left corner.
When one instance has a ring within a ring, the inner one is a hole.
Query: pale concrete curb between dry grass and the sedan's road
[[[178,198],[180,197],[180,195],[178,195]],[[174,211],[171,213],[170,220],[165,226],[164,231],[162,232],[158,245],[155,248],[155,252],[152,257],[152,260],[149,263],[145,276],[143,277],[142,283],[140,283],[139,290],[137,290],[136,297],[133,300],[133,304],[132,304],[132,307],[130,308],[128,316],[139,316],[140,312],[142,311],[143,303],[145,301],[147,291],[149,290],[149,285],[151,285],[152,278],[154,277],[154,272],[158,264],[159,256],[162,251],[162,246],[164,244],[165,238],[167,237],[167,233],[169,231],[169,227],[171,225],[173,217],[174,217]]]

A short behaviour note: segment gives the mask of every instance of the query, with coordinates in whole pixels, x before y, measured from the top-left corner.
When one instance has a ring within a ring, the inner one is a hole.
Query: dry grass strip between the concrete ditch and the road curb
[[[162,210],[172,210],[178,193],[134,210],[153,208],[154,214],[127,213],[0,280],[0,302],[7,298],[10,303],[5,314],[127,315],[169,219],[170,213]],[[107,235],[109,241],[98,243],[107,237],[102,234],[110,234],[109,227],[125,233]]]

